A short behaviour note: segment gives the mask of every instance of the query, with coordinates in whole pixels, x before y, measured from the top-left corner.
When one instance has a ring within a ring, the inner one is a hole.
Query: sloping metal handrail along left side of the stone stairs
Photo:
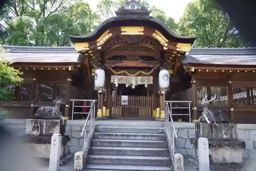
[[[81,136],[83,136],[83,147],[82,147],[82,152],[83,153],[85,152],[86,145],[87,145],[86,144],[86,125],[87,125],[87,122],[90,118],[90,132],[91,132],[93,124],[94,124],[94,120],[95,120],[95,103],[96,103],[96,101],[93,101],[92,104],[91,104],[91,109],[90,109],[89,114],[86,118],[86,122],[84,122],[82,132],[81,132]]]

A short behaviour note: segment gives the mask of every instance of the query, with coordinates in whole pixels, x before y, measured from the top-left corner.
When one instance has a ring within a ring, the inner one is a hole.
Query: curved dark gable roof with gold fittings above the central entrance
[[[150,11],[144,6],[140,6],[138,1],[126,1],[126,5],[116,11],[115,17],[104,20],[104,22],[88,35],[70,36],[71,41],[74,44],[78,43],[78,45],[83,43],[79,45],[79,48],[76,48],[78,51],[92,50],[95,47],[99,47],[95,44],[99,45],[99,42],[104,43],[104,39],[107,40],[118,34],[144,34],[155,37],[165,48],[167,48],[168,44],[181,47],[181,51],[190,50],[190,46],[196,39],[195,37],[177,35],[170,31],[161,20],[151,17],[149,14]]]

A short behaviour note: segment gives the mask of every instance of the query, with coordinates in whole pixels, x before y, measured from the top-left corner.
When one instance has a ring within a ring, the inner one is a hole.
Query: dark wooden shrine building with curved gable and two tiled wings
[[[71,117],[70,99],[94,99],[98,117],[164,119],[165,100],[172,100],[191,101],[195,120],[207,94],[217,95],[210,108],[228,113],[232,122],[256,123],[256,48],[191,49],[195,39],[170,31],[139,1],[126,1],[90,34],[71,36],[75,48],[3,46],[24,72],[24,82],[1,83],[14,100],[2,102],[0,110],[29,118],[60,100],[63,115]],[[105,82],[95,91],[97,69],[104,71]],[[166,91],[159,89],[162,69],[169,73]]]

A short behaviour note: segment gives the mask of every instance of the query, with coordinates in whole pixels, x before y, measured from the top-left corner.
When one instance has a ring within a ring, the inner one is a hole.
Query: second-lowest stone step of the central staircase
[[[172,164],[169,157],[119,155],[88,155],[87,163],[146,166],[170,166]]]

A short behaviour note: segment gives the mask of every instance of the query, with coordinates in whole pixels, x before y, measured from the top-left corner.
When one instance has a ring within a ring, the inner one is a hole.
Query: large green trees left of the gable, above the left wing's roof
[[[0,19],[5,22],[2,43],[70,46],[69,36],[91,32],[97,15],[82,0],[10,0]]]

